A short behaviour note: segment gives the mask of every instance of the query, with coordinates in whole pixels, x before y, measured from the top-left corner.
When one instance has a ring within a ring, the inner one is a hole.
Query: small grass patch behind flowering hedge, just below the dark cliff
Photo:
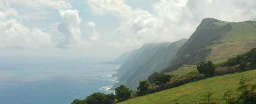
[[[196,70],[196,65],[187,65],[183,64],[182,67],[178,68],[177,70],[174,70],[172,72],[168,72],[167,74],[170,75],[184,75],[187,74],[190,71]]]

